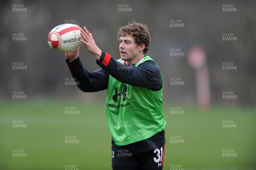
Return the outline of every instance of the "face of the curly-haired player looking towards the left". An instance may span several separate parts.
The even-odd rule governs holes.
[[[119,50],[123,61],[131,61],[143,52],[131,35],[120,37]]]

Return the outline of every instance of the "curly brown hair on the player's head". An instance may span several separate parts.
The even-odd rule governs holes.
[[[150,45],[150,33],[146,25],[133,21],[132,23],[121,27],[117,32],[118,37],[125,37],[128,35],[134,37],[137,45],[142,45],[143,43],[145,44],[143,54],[148,52],[148,47]]]

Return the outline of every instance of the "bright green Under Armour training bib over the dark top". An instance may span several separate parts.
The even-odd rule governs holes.
[[[148,60],[153,61],[149,56],[145,56],[135,66]],[[124,61],[121,59],[117,61],[120,62],[120,66],[123,65]],[[131,86],[109,75],[106,115],[116,145],[142,141],[164,129],[166,121],[162,113],[162,96],[163,88],[152,91],[144,87]]]

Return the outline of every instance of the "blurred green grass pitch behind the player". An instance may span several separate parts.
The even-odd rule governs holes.
[[[72,165],[73,170],[111,170],[105,102],[87,102],[2,102],[0,170],[65,170],[65,165]],[[255,110],[213,107],[201,114],[182,106],[184,114],[173,115],[169,104],[164,106],[164,170],[256,169]],[[67,115],[67,107],[76,114]],[[236,127],[223,128],[223,121]],[[14,128],[13,124],[26,127]],[[79,142],[65,143],[65,136]],[[183,142],[171,143],[174,136]],[[232,154],[223,157],[223,150]],[[14,152],[20,155],[15,157]]]

